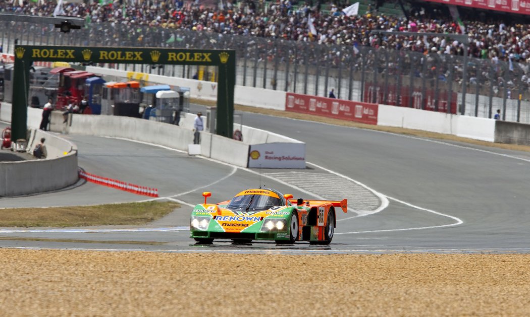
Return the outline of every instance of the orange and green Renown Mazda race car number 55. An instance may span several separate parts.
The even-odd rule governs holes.
[[[348,210],[347,200],[317,201],[282,195],[269,188],[251,188],[232,200],[208,204],[210,192],[202,193],[204,204],[191,212],[190,237],[200,243],[214,239],[234,242],[274,240],[276,243],[309,241],[329,244],[337,216],[335,207]]]

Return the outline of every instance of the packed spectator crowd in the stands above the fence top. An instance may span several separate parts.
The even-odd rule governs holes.
[[[16,14],[50,16],[56,1],[34,2],[0,1],[0,11]],[[141,4],[66,4],[65,15],[81,16],[87,22],[109,22],[115,28],[135,25],[161,26],[168,29],[187,29],[281,38],[293,41],[317,41],[327,44],[383,47],[417,52],[463,55],[462,43],[444,37],[443,33],[462,33],[461,26],[451,16],[427,14],[392,17],[369,11],[357,16],[346,16],[336,6],[323,13],[320,3],[305,3],[294,7],[289,0],[282,2],[246,2],[223,9],[208,8],[196,3],[184,4],[163,1],[144,1]],[[422,12],[423,13],[423,12]],[[312,34],[311,24],[316,34]],[[530,62],[530,24],[509,24],[502,21],[465,21],[469,36],[469,56],[492,60]],[[439,37],[378,35],[374,30],[435,32]],[[141,40],[141,38],[139,39]]]

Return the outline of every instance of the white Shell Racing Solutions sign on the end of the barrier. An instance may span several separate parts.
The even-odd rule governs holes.
[[[305,143],[252,144],[249,168],[305,168]]]

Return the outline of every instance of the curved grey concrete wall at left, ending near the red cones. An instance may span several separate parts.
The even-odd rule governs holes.
[[[54,191],[77,182],[77,148],[43,131],[31,131],[28,150],[46,138],[48,157],[41,160],[0,162],[0,197]]]

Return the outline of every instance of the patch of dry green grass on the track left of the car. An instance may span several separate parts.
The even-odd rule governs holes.
[[[180,208],[175,202],[0,209],[0,227],[82,227],[142,225]]]

